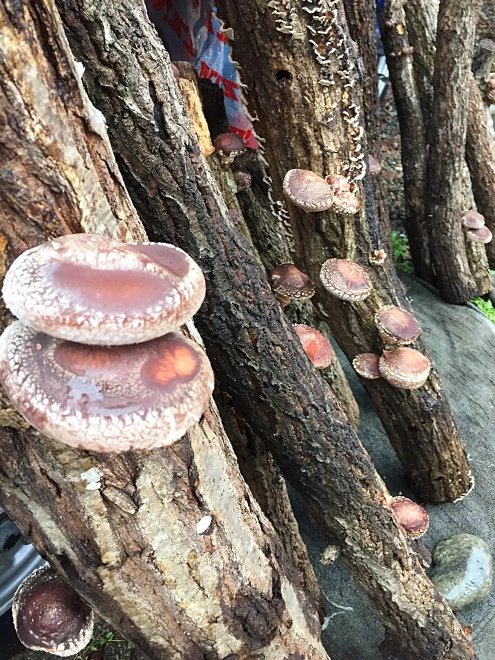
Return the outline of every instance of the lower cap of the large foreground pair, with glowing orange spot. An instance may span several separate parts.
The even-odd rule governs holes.
[[[20,321],[0,338],[0,382],[38,430],[94,452],[170,445],[199,421],[214,386],[206,353],[180,333],[102,347]]]

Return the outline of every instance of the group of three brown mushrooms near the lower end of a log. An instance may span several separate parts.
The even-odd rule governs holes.
[[[375,323],[385,349],[382,355],[357,355],[353,360],[355,371],[363,378],[382,376],[391,385],[405,390],[423,386],[430,375],[430,360],[406,346],[421,334],[417,319],[406,309],[387,305],[377,311]]]

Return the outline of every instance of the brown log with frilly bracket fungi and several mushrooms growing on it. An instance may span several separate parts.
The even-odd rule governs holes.
[[[306,39],[307,14],[300,17],[294,36],[276,30],[274,17],[263,3],[250,0],[242,8],[228,0],[218,3],[221,16],[234,28],[233,55],[243,65],[252,104],[265,138],[267,159],[276,199],[283,199],[282,180],[290,168],[300,167],[318,174],[334,172],[348,157],[342,113],[333,111],[334,126],[321,123],[328,107],[342,102],[340,85],[318,84],[320,71]],[[340,20],[344,21],[342,12]],[[250,25],[250,30],[245,26]],[[263,78],[255,76],[263,67]],[[289,78],[277,81],[279,71]],[[332,335],[352,360],[363,352],[380,352],[373,316],[384,305],[408,309],[408,301],[388,258],[375,263],[374,252],[385,247],[373,196],[365,179],[358,194],[362,210],[355,217],[333,212],[305,214],[294,206],[289,212],[298,247],[296,264],[317,286],[316,308]],[[320,283],[322,263],[331,256],[358,261],[369,273],[373,290],[362,303],[351,304],[331,296]],[[417,344],[427,351],[422,342]],[[388,437],[401,460],[412,487],[423,500],[455,500],[467,492],[470,469],[456,430],[439,374],[432,369],[426,386],[406,392],[383,380],[364,382]]]

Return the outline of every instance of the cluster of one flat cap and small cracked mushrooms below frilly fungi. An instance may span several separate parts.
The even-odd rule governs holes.
[[[289,170],[283,180],[285,197],[308,213],[326,211],[354,215],[360,209],[346,177],[331,174],[326,179],[309,170]]]

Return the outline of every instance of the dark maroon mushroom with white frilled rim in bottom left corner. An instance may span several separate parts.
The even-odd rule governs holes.
[[[21,583],[12,617],[24,646],[62,657],[83,650],[93,634],[92,610],[51,566],[34,571]]]

